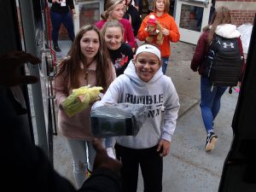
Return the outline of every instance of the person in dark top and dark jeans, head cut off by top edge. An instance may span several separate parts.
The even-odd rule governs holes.
[[[52,3],[50,8],[50,20],[52,26],[51,38],[56,52],[61,52],[58,44],[61,23],[67,28],[68,37],[73,42],[75,38],[73,28],[73,17],[76,17],[73,0],[48,0]],[[70,11],[72,13],[70,13]]]

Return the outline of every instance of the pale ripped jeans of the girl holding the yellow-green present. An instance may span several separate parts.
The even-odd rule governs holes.
[[[73,174],[80,188],[86,179],[87,167],[92,171],[96,150],[89,141],[67,138],[67,143],[73,156]]]

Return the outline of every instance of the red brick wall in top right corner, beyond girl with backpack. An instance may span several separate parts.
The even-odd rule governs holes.
[[[244,23],[253,24],[256,14],[256,0],[216,0],[215,7],[225,6],[230,9],[233,24],[241,26]]]

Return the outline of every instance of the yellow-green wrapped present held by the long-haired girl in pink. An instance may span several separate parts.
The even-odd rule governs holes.
[[[100,94],[102,87],[80,87],[79,89],[72,90],[72,94],[67,96],[67,99],[61,103],[62,108],[69,117],[76,113],[80,113],[85,108],[89,107],[90,102],[95,102]]]

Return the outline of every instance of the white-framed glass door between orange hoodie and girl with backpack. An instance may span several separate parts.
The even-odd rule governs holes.
[[[175,20],[180,40],[197,44],[203,27],[208,25],[212,0],[177,0]]]

